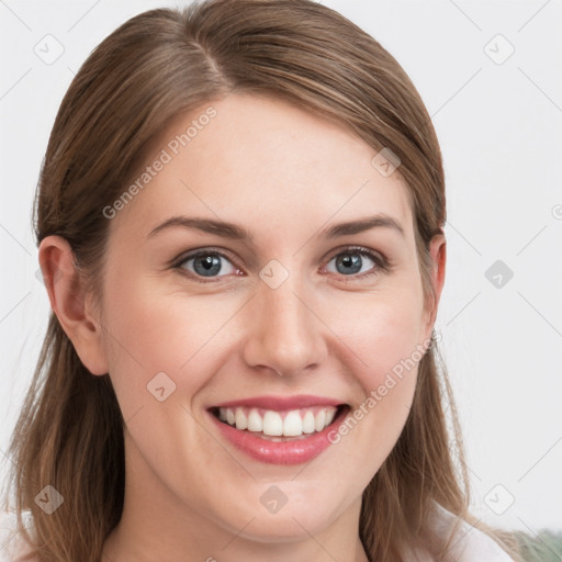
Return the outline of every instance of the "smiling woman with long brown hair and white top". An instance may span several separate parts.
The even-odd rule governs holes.
[[[112,33],[36,200],[30,559],[513,560],[447,434],[445,220],[419,95],[333,10],[211,0]]]

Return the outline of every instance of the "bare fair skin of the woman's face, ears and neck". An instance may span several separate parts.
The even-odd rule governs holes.
[[[146,165],[209,105],[169,123]],[[364,561],[361,493],[405,424],[417,366],[307,464],[250,459],[222,439],[206,408],[266,394],[359,408],[430,337],[445,238],[431,241],[436,300],[425,303],[400,169],[383,177],[371,165],[376,150],[286,102],[237,93],[212,105],[217,115],[111,220],[100,307],[64,239],[40,248],[45,278],[57,279],[47,282],[53,310],[92,375],[110,373],[126,420],[125,506],[102,560]],[[322,234],[375,213],[404,234]],[[175,215],[236,223],[252,241],[181,226],[148,237]],[[349,245],[392,267],[359,255],[361,271],[348,272],[336,258],[357,256]],[[226,256],[213,278],[169,265],[209,247]],[[289,272],[277,289],[259,277],[272,259]],[[183,271],[196,276],[193,266]],[[176,391],[159,402],[147,384],[162,371]],[[260,502],[272,484],[288,499],[276,514]]]

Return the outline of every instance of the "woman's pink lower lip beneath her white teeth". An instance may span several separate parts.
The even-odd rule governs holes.
[[[310,435],[303,434],[305,437],[302,439],[282,442],[261,439],[252,431],[235,429],[228,424],[221,422],[211,412],[209,412],[209,415],[217,425],[223,437],[249,457],[270,464],[302,464],[312,461],[333,445],[328,439],[328,434],[334,435],[334,432],[337,432],[347,413],[348,408],[342,408],[334,422],[322,431],[315,431]]]

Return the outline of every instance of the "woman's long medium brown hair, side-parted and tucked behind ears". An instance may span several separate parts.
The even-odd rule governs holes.
[[[123,193],[144,149],[179,113],[243,91],[336,120],[400,158],[424,294],[432,299],[428,248],[442,232],[446,196],[430,117],[374,38],[310,0],[210,0],[150,10],[108,36],[58,111],[37,187],[37,244],[48,235],[66,238],[99,295],[110,223],[102,209]],[[109,374],[86,369],[52,312],[10,447],[20,530],[38,562],[101,559],[123,509],[123,426]],[[419,363],[404,430],[363,492],[359,532],[371,561],[398,561],[404,546],[429,546],[434,502],[472,521],[458,429],[434,342]],[[64,497],[52,515],[34,502],[47,484]],[[25,510],[33,537],[21,518]],[[436,555],[445,559],[447,548],[439,544]]]

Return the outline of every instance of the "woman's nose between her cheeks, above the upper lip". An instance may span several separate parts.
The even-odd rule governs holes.
[[[294,378],[317,369],[327,356],[326,329],[314,296],[290,276],[271,289],[260,282],[247,316],[244,359],[255,369]]]

